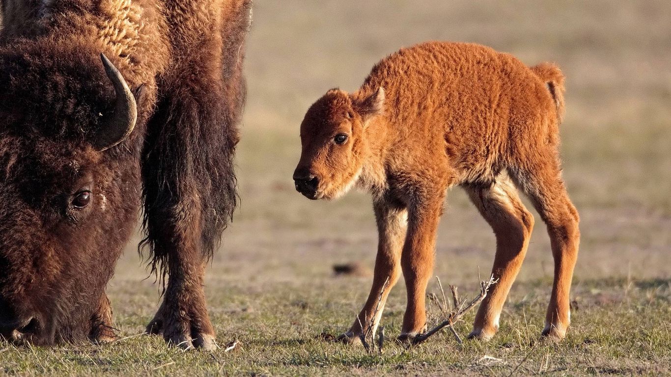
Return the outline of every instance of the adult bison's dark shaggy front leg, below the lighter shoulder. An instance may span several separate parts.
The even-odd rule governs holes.
[[[164,302],[148,331],[162,333],[173,345],[211,349],[215,333],[203,278],[236,205],[237,131],[224,86],[214,82],[203,87],[207,89],[176,88],[158,103],[149,125],[143,178],[145,243],[158,274],[168,276]]]

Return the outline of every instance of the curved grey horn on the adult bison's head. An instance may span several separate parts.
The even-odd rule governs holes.
[[[111,80],[114,91],[117,93],[113,113],[103,119],[100,128],[93,136],[93,146],[102,151],[112,148],[130,135],[138,119],[138,105],[117,67],[107,59],[105,54],[100,54],[100,58],[103,60],[105,73],[107,73],[107,77]]]

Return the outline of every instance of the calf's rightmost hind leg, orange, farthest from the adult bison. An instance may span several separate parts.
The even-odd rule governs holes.
[[[570,288],[578,258],[580,230],[578,211],[568,199],[554,150],[536,154],[532,164],[517,169],[517,184],[529,195],[535,209],[548,226],[554,257],[554,284],[543,335],[562,339],[570,323]]]

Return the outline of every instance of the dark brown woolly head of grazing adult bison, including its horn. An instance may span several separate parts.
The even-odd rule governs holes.
[[[97,336],[138,214],[136,97],[85,55],[0,52],[0,335],[14,343]]]

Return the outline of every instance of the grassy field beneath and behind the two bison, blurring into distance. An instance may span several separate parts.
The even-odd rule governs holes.
[[[206,287],[219,344],[239,340],[238,347],[184,353],[148,336],[52,349],[0,343],[0,374],[669,374],[668,14],[665,0],[256,0],[238,155],[242,206]],[[382,354],[368,355],[321,335],[348,328],[370,284],[370,277],[335,278],[331,266],[372,267],[376,231],[367,195],[315,203],[295,193],[298,125],[327,89],[356,89],[382,56],[429,39],[480,42],[564,69],[564,177],[582,218],[582,242],[572,328],[560,344],[539,341],[552,284],[539,220],[490,343],[458,345],[442,333],[414,349],[387,341]],[[452,191],[435,273],[474,294],[478,268],[486,276],[494,248],[488,225]],[[141,333],[158,306],[158,287],[146,276],[130,245],[109,286],[123,336]],[[382,319],[389,339],[400,331],[404,306],[401,283]],[[435,308],[429,311],[437,320]],[[472,313],[458,327],[462,335],[470,321]]]

